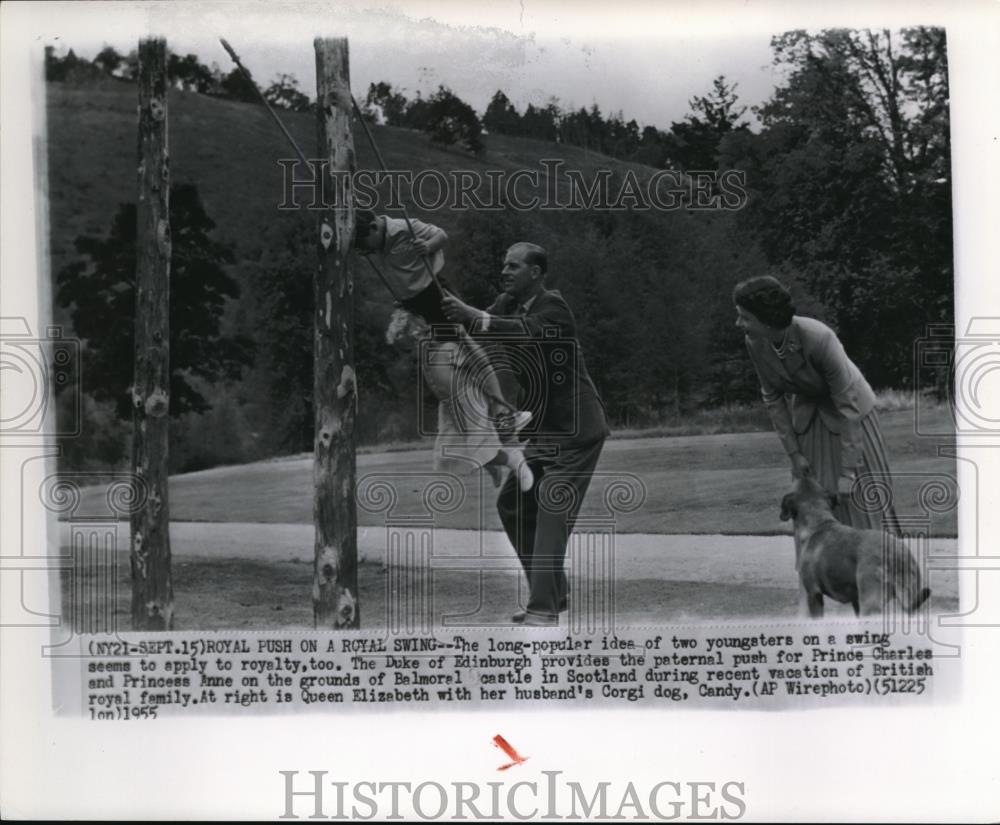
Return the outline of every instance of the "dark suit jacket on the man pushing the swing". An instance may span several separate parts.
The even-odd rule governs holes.
[[[576,337],[576,320],[556,290],[543,289],[528,311],[518,314],[517,301],[502,293],[486,312],[488,329],[473,326],[477,337],[496,338],[519,347],[530,373],[521,375],[522,401],[535,418],[524,434],[569,445],[593,444],[610,434],[604,403],[587,372]],[[532,386],[532,375],[541,386]]]

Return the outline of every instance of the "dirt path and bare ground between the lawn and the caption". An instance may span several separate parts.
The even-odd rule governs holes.
[[[70,525],[61,524],[61,543]],[[358,532],[362,626],[396,626],[400,605],[426,603],[435,625],[496,626],[523,603],[523,576],[499,532],[436,529],[429,563],[416,553],[394,554],[386,564],[385,528]],[[954,539],[932,542],[928,564],[931,609],[958,609]],[[311,627],[313,528],[299,524],[174,522],[174,592],[178,629]],[[128,547],[128,525],[118,547]],[[732,622],[792,618],[798,588],[789,536],[614,536],[609,565],[575,591],[591,604],[613,606],[616,626]],[[580,557],[577,556],[577,559]],[[117,559],[118,607],[128,623],[127,553]],[[570,573],[573,575],[573,557]],[[849,618],[830,605],[828,615]],[[567,621],[569,621],[567,619]]]

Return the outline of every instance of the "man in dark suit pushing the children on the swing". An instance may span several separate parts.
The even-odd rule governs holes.
[[[528,577],[527,611],[513,621],[557,625],[566,609],[566,545],[590,479],[610,434],[604,404],[587,373],[576,338],[576,321],[558,291],[545,288],[545,250],[517,243],[507,250],[503,293],[485,311],[454,296],[442,307],[449,320],[465,324],[512,346],[529,344],[531,370],[541,381],[528,386],[522,374],[526,408],[533,414],[525,456],[535,477],[523,491],[510,476],[500,490],[497,511]]]

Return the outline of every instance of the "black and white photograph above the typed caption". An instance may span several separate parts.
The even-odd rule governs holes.
[[[120,628],[794,616],[807,477],[827,500],[797,526],[919,515],[954,555],[949,373],[914,365],[954,340],[928,335],[954,326],[943,28],[691,44],[700,85],[616,94],[658,42],[407,22],[317,45],[323,105],[353,96],[319,127],[312,42],[46,46],[52,317],[79,345],[52,483],[82,493],[66,530],[115,515],[100,473],[134,479]],[[576,598],[588,552],[609,579]],[[886,583],[907,610],[922,561]],[[880,571],[843,572],[814,610],[882,608]]]

